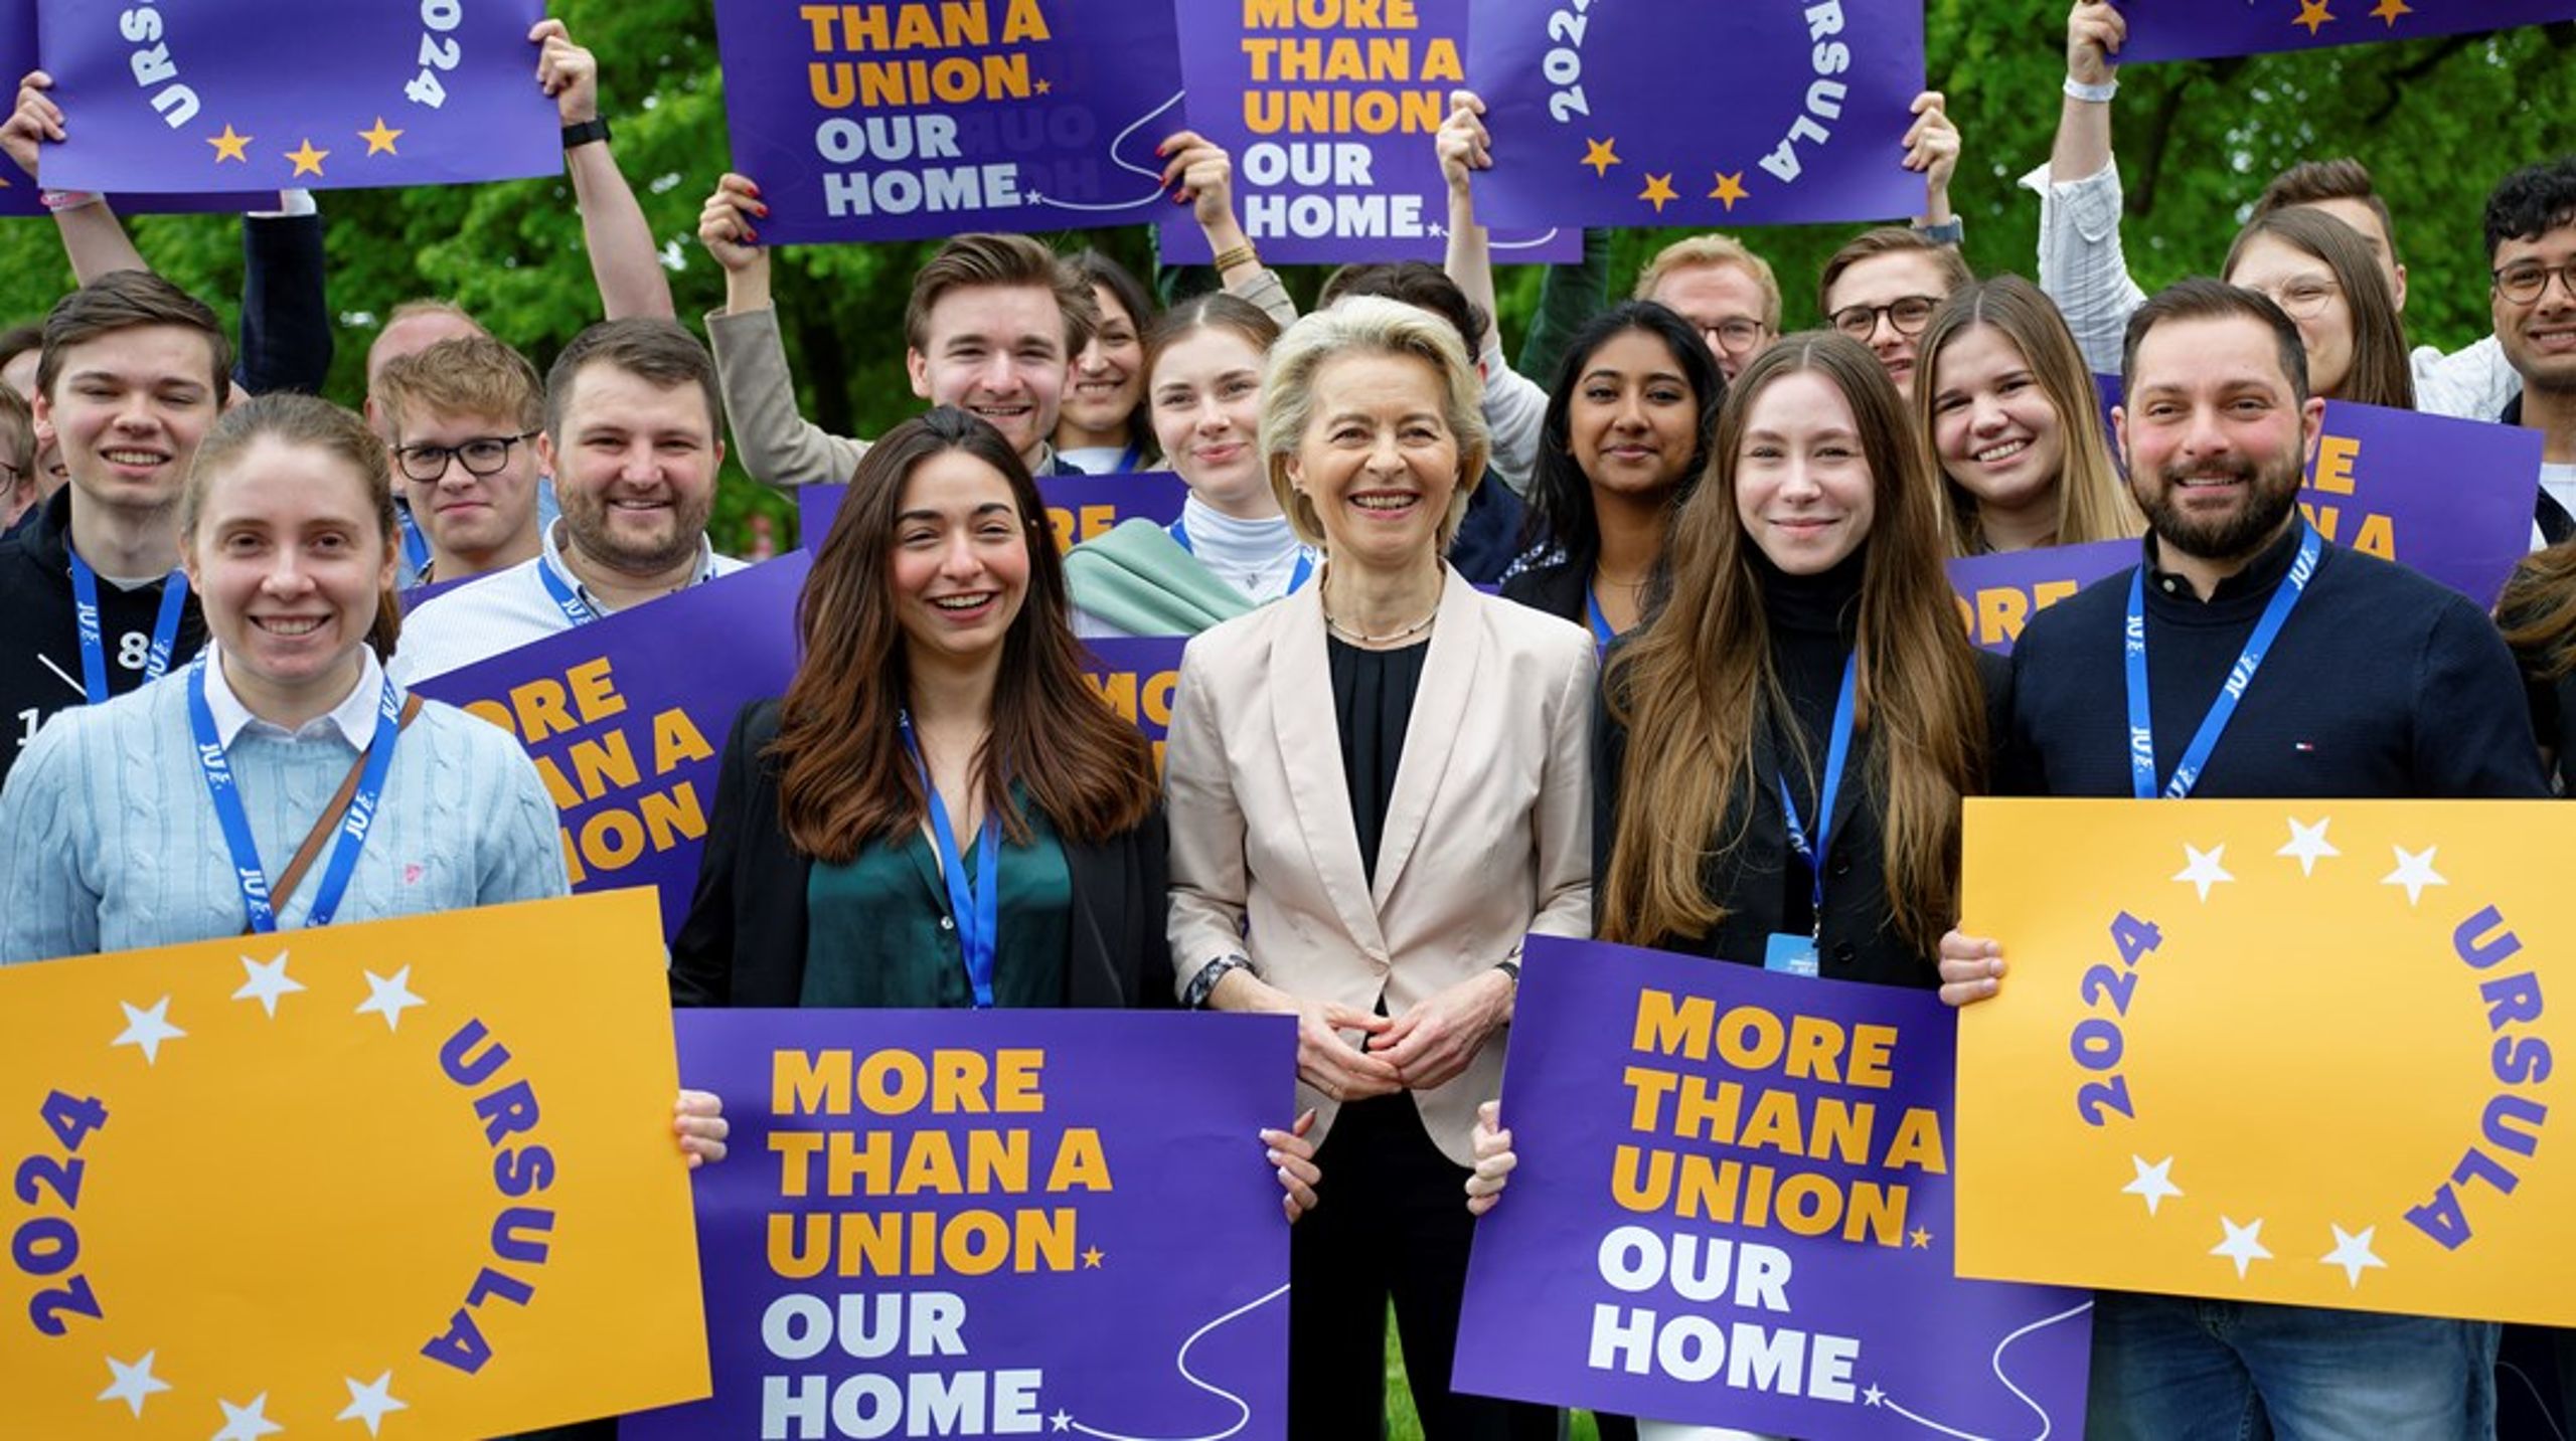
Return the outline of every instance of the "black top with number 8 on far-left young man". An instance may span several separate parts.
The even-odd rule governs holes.
[[[36,520],[0,540],[0,780],[8,780],[18,751],[57,710],[85,705],[80,690],[80,618],[72,607],[72,486],[54,491]],[[142,684],[142,654],[152,646],[160,620],[162,584],[118,589],[98,582],[98,636],[108,648],[108,695]],[[170,672],[185,666],[206,643],[206,618],[196,594],[178,615],[178,643],[170,646]],[[134,659],[134,664],[124,664]]]

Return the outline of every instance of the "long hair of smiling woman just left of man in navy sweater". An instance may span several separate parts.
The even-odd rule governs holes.
[[[1914,414],[1922,425],[1924,458],[1940,476],[1950,504],[1940,507],[1942,533],[1953,556],[1973,556],[1984,548],[1976,522],[1976,491],[1950,479],[1940,463],[1935,440],[1932,401],[1940,396],[1940,353],[1971,329],[1989,324],[2030,365],[2032,381],[2048,396],[2048,409],[2058,412],[2063,435],[2063,468],[2058,471],[2058,546],[2084,546],[2087,540],[2128,540],[2146,530],[2138,507],[2120,484],[2120,468],[2110,461],[2110,443],[2102,437],[2102,399],[2094,391],[2084,353],[2076,350],[2066,317],[2020,275],[1994,275],[1971,280],[1953,293],[1924,327],[1914,353]]]

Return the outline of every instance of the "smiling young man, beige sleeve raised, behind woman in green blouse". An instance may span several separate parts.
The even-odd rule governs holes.
[[[729,178],[732,183],[732,178]],[[724,412],[742,468],[773,486],[842,484],[866,440],[832,435],[796,414],[768,252],[737,232],[744,196],[719,190],[698,237],[724,265],[726,306],[706,317],[724,378]],[[1092,288],[1025,234],[961,234],[912,278],[904,304],[904,371],[912,394],[981,417],[1036,476],[1079,476],[1056,455],[1056,414],[1072,358],[1100,324]]]

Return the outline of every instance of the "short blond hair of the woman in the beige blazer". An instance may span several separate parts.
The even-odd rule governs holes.
[[[1314,419],[1314,381],[1327,360],[1345,355],[1404,355],[1440,376],[1440,419],[1458,437],[1458,489],[1440,517],[1440,548],[1458,535],[1492,440],[1484,427],[1484,381],[1468,360],[1458,327],[1404,301],[1345,296],[1332,309],[1301,317],[1270,350],[1262,376],[1262,461],[1270,466],[1270,491],[1298,540],[1324,546],[1324,522],[1306,491],[1288,481],[1288,461]]]

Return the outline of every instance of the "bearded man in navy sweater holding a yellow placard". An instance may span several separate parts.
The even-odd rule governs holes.
[[[2112,412],[2146,558],[2030,618],[2004,782],[2040,795],[2540,798],[2514,661],[2465,597],[2324,543],[2298,515],[2324,401],[2269,298],[2182,280],[2146,301]],[[2110,697],[2125,695],[2128,708]],[[1942,937],[1942,998],[2004,983]],[[2087,1436],[2486,1441],[2496,1328],[2102,1292]]]

